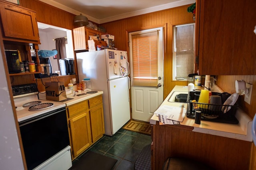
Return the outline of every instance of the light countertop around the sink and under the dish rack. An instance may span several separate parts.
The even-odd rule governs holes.
[[[172,95],[174,91],[181,91],[187,92],[187,86],[175,86],[170,94],[166,97],[164,102],[162,102],[161,106],[177,106],[179,107],[181,103],[178,102],[168,102],[168,99]],[[221,92],[221,89],[218,91]],[[186,104],[187,107],[187,104]],[[199,133],[207,133],[211,135],[217,135],[222,137],[228,137],[233,139],[240,139],[244,141],[252,141],[252,119],[244,112],[242,109],[238,108],[236,111],[236,118],[238,119],[239,123],[234,124],[227,124],[227,123],[218,123],[212,121],[203,121],[201,120],[201,124],[198,125],[194,123],[194,119],[187,118],[185,116],[184,120],[180,122],[180,125],[194,127],[192,131],[199,132]],[[158,121],[157,114],[154,114],[151,119],[151,124],[156,124]]]

